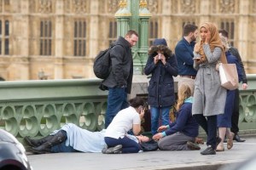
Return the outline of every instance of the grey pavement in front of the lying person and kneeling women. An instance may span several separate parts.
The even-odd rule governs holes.
[[[206,147],[206,144],[201,144],[201,150]],[[213,170],[224,164],[239,163],[253,154],[256,154],[256,138],[247,137],[247,141],[244,143],[235,141],[231,150],[227,150],[225,144],[225,151],[218,152],[215,156],[201,156],[200,150],[157,150],[119,155],[104,155],[102,153],[29,155],[28,153],[28,159],[34,170]]]

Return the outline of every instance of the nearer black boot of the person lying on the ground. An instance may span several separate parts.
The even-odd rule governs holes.
[[[36,153],[36,154],[49,153],[51,147],[53,147],[53,146],[55,146],[57,144],[61,144],[66,139],[67,139],[66,132],[61,130],[58,133],[55,133],[55,135],[53,135],[52,139],[49,139],[47,142],[45,142],[44,144],[39,145],[38,147],[30,148],[30,150],[33,153]]]

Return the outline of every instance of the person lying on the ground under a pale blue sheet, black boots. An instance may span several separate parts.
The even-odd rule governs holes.
[[[57,153],[57,152],[102,152],[106,145],[104,135],[106,129],[100,132],[90,132],[89,130],[78,127],[73,123],[67,123],[61,129],[49,134],[42,139],[31,139],[25,137],[24,140],[28,148],[34,154]],[[139,135],[127,136],[137,143],[148,142],[147,136]]]

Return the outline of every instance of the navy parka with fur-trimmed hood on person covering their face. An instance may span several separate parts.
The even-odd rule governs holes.
[[[154,57],[161,49],[166,56],[166,65],[158,61],[154,65]],[[171,106],[175,102],[174,81],[177,77],[177,60],[165,39],[156,39],[148,51],[148,61],[144,68],[146,75],[152,75],[148,86],[148,105],[154,107]]]

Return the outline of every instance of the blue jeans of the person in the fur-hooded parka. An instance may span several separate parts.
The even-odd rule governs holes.
[[[151,112],[151,133],[154,135],[157,133],[157,129],[159,127],[159,118],[161,115],[161,124],[169,125],[170,123],[170,111],[171,106],[168,107],[150,107]]]

